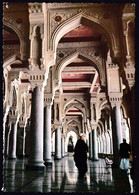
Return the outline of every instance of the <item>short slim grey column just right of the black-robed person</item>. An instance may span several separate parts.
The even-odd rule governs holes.
[[[92,160],[98,160],[97,130],[92,130]]]

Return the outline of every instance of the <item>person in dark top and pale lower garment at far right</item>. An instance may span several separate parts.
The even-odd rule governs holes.
[[[120,144],[120,169],[127,173],[129,169],[129,154],[131,152],[130,145],[126,143],[126,139],[123,138],[123,143]]]

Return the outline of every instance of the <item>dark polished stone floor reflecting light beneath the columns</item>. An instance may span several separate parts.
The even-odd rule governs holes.
[[[104,159],[88,160],[88,172],[81,180],[73,156],[53,160],[45,171],[26,170],[27,159],[5,160],[4,192],[83,192],[133,193],[135,182],[131,174],[122,175],[117,168],[106,166]]]

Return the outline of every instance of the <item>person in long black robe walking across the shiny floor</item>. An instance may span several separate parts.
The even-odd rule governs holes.
[[[88,146],[84,141],[84,134],[80,134],[80,139],[77,141],[74,149],[74,161],[79,171],[79,178],[83,179],[87,172],[87,152]]]

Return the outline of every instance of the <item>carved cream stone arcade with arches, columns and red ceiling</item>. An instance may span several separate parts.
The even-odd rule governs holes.
[[[119,164],[126,138],[135,161],[135,7],[4,4],[4,156],[40,168],[72,152]]]

